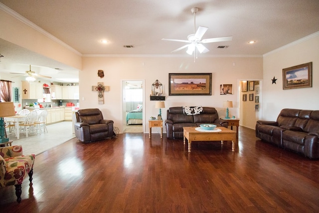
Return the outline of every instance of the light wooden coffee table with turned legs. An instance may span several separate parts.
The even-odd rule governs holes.
[[[235,152],[236,145],[236,132],[225,127],[216,127],[220,129],[220,132],[200,132],[195,130],[197,127],[183,127],[184,137],[183,142],[185,145],[185,139],[188,141],[188,152],[191,151],[192,141],[231,141],[231,151]]]

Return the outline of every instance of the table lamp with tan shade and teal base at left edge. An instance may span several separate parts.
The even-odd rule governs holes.
[[[5,138],[5,124],[3,117],[14,116],[13,102],[0,102],[0,143],[8,142],[9,139]]]

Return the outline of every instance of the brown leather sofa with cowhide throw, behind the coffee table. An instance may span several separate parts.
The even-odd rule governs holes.
[[[228,122],[218,118],[218,113],[213,107],[203,107],[198,115],[186,115],[182,107],[170,107],[165,120],[168,139],[183,138],[183,127],[199,127],[199,124],[215,124],[228,127]]]

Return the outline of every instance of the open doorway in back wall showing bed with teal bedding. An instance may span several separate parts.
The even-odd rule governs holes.
[[[144,132],[144,81],[122,81],[123,133]]]

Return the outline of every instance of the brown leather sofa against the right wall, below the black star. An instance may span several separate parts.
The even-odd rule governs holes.
[[[319,110],[283,109],[277,121],[257,121],[256,137],[319,158]]]

